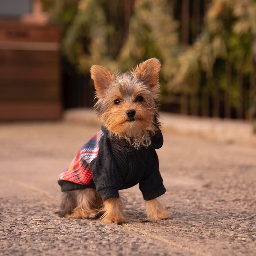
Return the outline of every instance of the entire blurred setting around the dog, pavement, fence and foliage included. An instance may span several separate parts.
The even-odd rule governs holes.
[[[255,36],[256,0],[0,0],[0,255],[255,256]],[[170,219],[143,221],[138,185],[126,226],[60,219],[58,176],[100,129],[91,65],[152,57]]]

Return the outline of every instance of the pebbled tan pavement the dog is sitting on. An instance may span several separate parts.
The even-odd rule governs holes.
[[[58,218],[57,176],[98,129],[0,125],[0,255],[256,255],[256,149],[167,129],[157,152],[170,219],[141,222],[138,187],[124,191],[122,226]]]

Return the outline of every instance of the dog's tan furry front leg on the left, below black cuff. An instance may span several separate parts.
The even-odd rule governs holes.
[[[121,225],[125,222],[123,213],[124,202],[121,198],[109,198],[103,201],[101,219],[105,223],[115,223]]]

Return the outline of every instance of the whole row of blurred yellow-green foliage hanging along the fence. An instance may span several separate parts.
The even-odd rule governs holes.
[[[93,64],[126,71],[138,62],[158,57],[162,62],[163,93],[193,94],[212,90],[215,73],[219,74],[220,88],[225,90],[225,62],[229,61],[233,67],[231,102],[235,106],[236,72],[242,69],[244,75],[249,75],[252,71],[255,0],[213,0],[202,32],[191,46],[179,42],[179,22],[173,19],[172,0],[136,0],[131,10],[125,9],[125,0],[42,1],[62,25],[63,53],[80,72],[89,73]],[[120,27],[113,16],[120,10],[121,15],[132,13],[127,28]],[[118,36],[120,30],[125,30],[122,38]]]

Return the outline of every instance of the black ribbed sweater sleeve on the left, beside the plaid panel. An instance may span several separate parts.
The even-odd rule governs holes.
[[[100,139],[99,151],[97,157],[91,161],[90,169],[96,190],[102,200],[119,197],[118,191],[123,185],[123,177],[113,159],[106,136]]]

